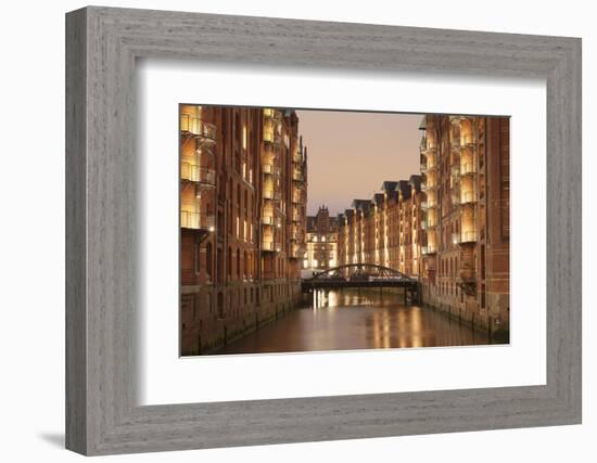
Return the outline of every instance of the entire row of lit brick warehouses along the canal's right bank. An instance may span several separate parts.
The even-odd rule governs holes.
[[[428,115],[421,175],[339,215],[339,265],[421,279],[424,303],[509,335],[509,119]]]

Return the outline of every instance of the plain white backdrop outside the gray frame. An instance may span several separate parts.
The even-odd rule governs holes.
[[[62,450],[64,416],[64,12],[82,2],[8,3],[2,11],[2,168],[0,308],[3,397],[0,454],[5,461],[72,461]],[[104,4],[305,20],[350,21],[583,37],[584,108],[584,424],[551,428],[458,433],[336,442],[118,456],[119,461],[355,461],[442,462],[596,460],[595,197],[597,173],[597,31],[589,2],[495,3],[322,1],[106,1]],[[530,172],[532,175],[532,172]],[[593,329],[593,330],[592,330]]]

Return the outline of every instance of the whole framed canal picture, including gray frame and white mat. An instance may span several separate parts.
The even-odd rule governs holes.
[[[581,423],[581,40],[66,16],[66,446]]]

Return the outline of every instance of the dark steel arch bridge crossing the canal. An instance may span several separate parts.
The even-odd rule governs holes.
[[[422,294],[417,279],[374,263],[346,263],[326,269],[310,279],[303,280],[301,286],[303,293],[345,287],[402,287],[405,300],[410,294],[411,299],[419,303]]]

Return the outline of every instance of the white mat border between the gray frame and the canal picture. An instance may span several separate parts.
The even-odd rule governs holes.
[[[545,82],[395,73],[392,77],[204,63],[138,64],[141,403],[256,400],[545,384]],[[201,86],[196,83],[201,82]],[[238,86],[242,82],[242,86]],[[289,93],[285,89],[292,89]],[[347,100],[346,95],[351,98]],[[466,94],[467,98],[461,98]],[[264,97],[267,95],[267,97]],[[267,101],[263,99],[267,98]],[[178,103],[508,114],[511,343],[437,349],[178,358]],[[308,140],[307,140],[308,143]],[[312,156],[313,156],[313,152]],[[534,176],[528,172],[533,171]],[[524,197],[536,204],[525,207]],[[356,362],[356,363],[355,363]],[[357,368],[355,365],[358,364]],[[204,381],[234,373],[236,381]]]

